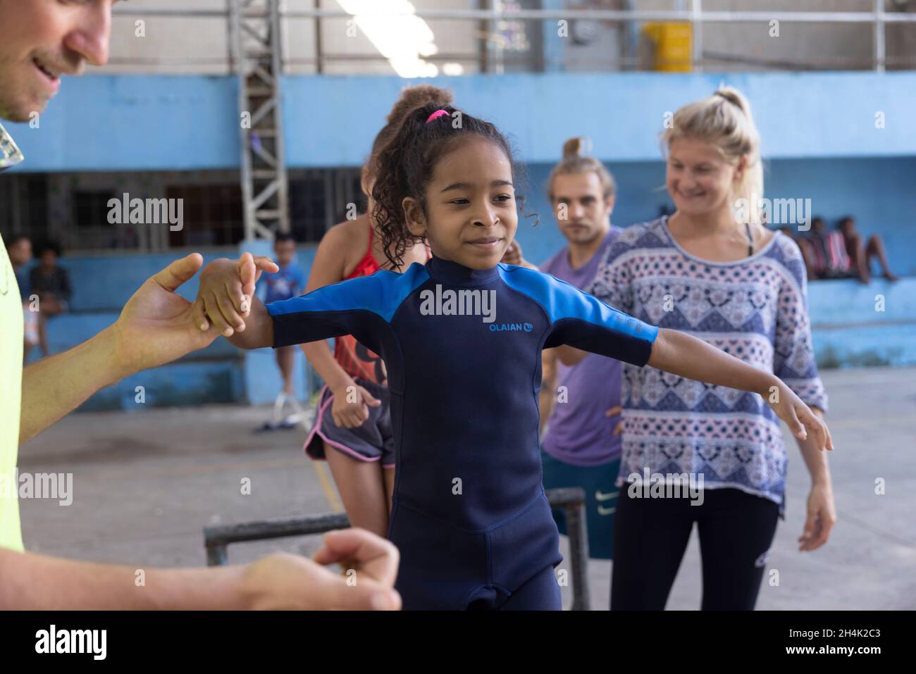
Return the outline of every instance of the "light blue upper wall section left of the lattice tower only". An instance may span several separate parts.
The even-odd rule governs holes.
[[[238,87],[227,77],[66,78],[38,128],[7,125],[26,162],[14,170],[232,168]]]

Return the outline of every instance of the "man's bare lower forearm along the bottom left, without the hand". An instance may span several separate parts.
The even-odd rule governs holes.
[[[244,573],[131,569],[0,549],[0,610],[242,609]]]

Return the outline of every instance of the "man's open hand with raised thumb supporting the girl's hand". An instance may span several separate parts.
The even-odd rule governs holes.
[[[219,332],[195,325],[191,302],[176,294],[203,264],[200,253],[175,260],[155,276],[147,278],[127,300],[111,331],[114,364],[119,378],[157,367],[213,342]]]

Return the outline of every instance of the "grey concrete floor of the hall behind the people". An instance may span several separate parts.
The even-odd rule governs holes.
[[[822,549],[802,553],[808,478],[792,443],[780,523],[758,608],[916,608],[916,369],[826,371],[839,521]],[[301,452],[302,429],[253,433],[267,408],[214,406],[72,415],[21,448],[27,473],[73,473],[73,501],[20,503],[27,549],[80,560],[202,565],[202,527],[339,508],[330,473]],[[251,494],[243,495],[244,478]],[[884,495],[875,494],[883,478]],[[310,554],[318,538],[236,544],[231,561],[284,549]],[[565,547],[565,539],[563,541]],[[610,562],[590,563],[592,605],[606,609]],[[778,570],[779,585],[767,582]],[[700,603],[694,535],[670,609]],[[567,592],[567,603],[569,596]]]

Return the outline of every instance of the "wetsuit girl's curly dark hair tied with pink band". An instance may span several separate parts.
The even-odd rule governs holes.
[[[437,110],[444,110],[448,116],[426,120]],[[404,252],[409,242],[418,242],[419,237],[410,234],[404,217],[402,202],[412,197],[420,202],[426,213],[426,186],[443,156],[453,151],[458,143],[472,136],[480,136],[502,149],[512,168],[512,181],[520,191],[519,181],[525,179],[524,167],[513,158],[506,136],[495,125],[459,111],[452,105],[427,103],[411,110],[404,116],[398,133],[382,147],[376,156],[376,183],[372,198],[376,201],[372,212],[381,234],[383,249],[388,262],[394,268],[404,264]],[[524,196],[517,194],[516,203],[523,215],[537,215],[524,212]]]

